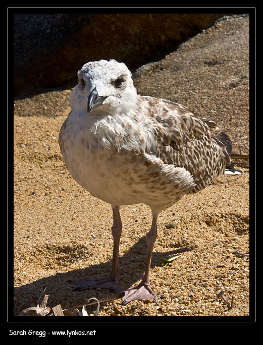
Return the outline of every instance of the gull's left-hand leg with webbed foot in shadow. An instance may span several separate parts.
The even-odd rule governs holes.
[[[113,290],[114,287],[118,284],[119,275],[121,271],[119,269],[119,246],[120,246],[120,238],[122,234],[122,221],[120,216],[120,207],[113,206],[113,226],[112,226],[112,234],[113,234],[113,263],[112,263],[112,270],[108,277],[102,279],[84,279],[84,280],[70,280],[71,284],[76,284],[77,287],[74,291],[83,291],[87,290],[90,287],[104,287],[106,289]]]

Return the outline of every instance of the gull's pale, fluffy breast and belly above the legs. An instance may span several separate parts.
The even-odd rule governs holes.
[[[146,153],[152,140],[128,117],[94,121],[86,115],[73,121],[70,114],[59,142],[72,177],[93,196],[116,205],[166,208],[194,183],[189,171]]]

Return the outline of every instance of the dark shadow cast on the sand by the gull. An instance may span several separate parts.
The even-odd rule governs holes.
[[[142,237],[122,256],[120,256],[119,264],[123,274],[120,276],[119,284],[116,287],[116,291],[128,289],[143,278],[145,270],[146,250],[147,246],[145,237]],[[174,250],[167,252],[153,252],[151,268],[155,266],[161,267],[162,257],[168,257],[175,253],[188,250],[190,249],[175,248]],[[112,253],[109,253],[109,256],[110,255],[112,255]],[[61,304],[62,308],[67,308],[67,305],[71,307],[72,305],[74,305],[74,298],[78,296],[76,294],[82,294],[83,300],[90,297],[102,298],[114,294],[114,292],[110,292],[108,289],[99,289],[99,293],[96,292],[97,289],[89,289],[84,292],[74,292],[74,285],[71,285],[68,282],[68,280],[71,279],[81,280],[106,277],[107,275],[109,275],[111,267],[112,260],[99,264],[89,265],[88,267],[84,267],[82,269],[69,270],[66,273],[57,273],[55,275],[46,276],[29,284],[14,287],[14,316],[18,316],[19,313],[25,308],[36,306],[43,286],[46,284],[47,287],[45,294],[49,294],[48,306],[50,308],[58,304]],[[153,279],[152,285],[154,286]],[[80,296],[81,295],[79,295],[78,297]]]

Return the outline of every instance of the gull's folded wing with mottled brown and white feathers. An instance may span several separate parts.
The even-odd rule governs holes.
[[[150,109],[148,130],[154,138],[148,153],[190,171],[195,192],[224,173],[230,157],[225,145],[212,134],[218,128],[214,121],[200,119],[185,106],[165,99],[141,96],[141,101]]]

